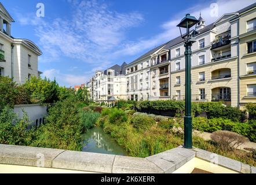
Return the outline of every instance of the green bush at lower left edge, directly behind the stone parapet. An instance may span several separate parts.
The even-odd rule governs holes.
[[[5,106],[0,112],[0,143],[5,145],[28,145],[28,116],[18,119],[12,108]]]

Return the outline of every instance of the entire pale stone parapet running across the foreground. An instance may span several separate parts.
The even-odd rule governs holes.
[[[180,146],[147,158],[115,156],[60,149],[0,145],[0,164],[67,169],[97,173],[173,173],[193,158],[213,161],[238,173],[256,173],[256,168],[209,151]],[[216,161],[214,161],[216,162]],[[216,163],[215,163],[216,164]]]

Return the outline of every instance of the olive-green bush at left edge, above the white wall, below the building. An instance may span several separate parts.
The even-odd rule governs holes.
[[[17,84],[9,77],[0,76],[0,112],[6,105],[13,107],[17,95]]]

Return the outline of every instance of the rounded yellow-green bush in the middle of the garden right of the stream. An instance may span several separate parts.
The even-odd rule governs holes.
[[[134,125],[134,128],[145,129],[151,127],[153,124],[156,124],[156,121],[152,117],[148,117],[144,114],[133,115],[131,119],[131,124]]]

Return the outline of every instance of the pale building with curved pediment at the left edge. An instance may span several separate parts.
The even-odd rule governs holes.
[[[31,40],[13,38],[13,18],[0,2],[0,76],[9,76],[17,83],[24,83],[33,76],[40,76],[38,57],[42,51]]]

